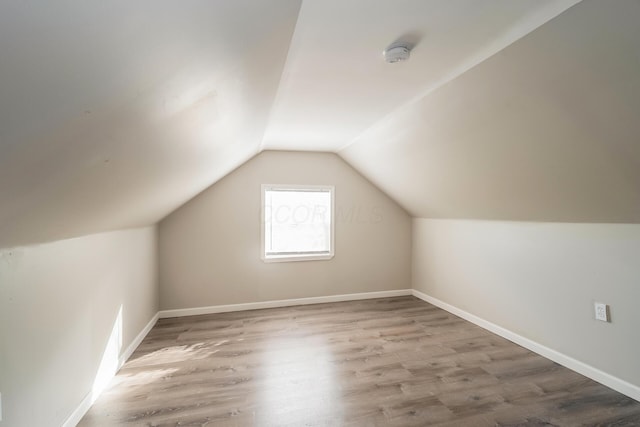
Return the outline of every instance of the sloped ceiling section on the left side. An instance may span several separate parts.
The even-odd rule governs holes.
[[[153,224],[255,155],[299,8],[0,2],[0,247]]]

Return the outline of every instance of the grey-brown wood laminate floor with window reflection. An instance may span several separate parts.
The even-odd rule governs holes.
[[[639,426],[640,403],[414,297],[162,319],[80,426]]]

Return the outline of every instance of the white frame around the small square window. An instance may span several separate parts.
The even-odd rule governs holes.
[[[266,251],[266,210],[265,210],[265,193],[268,190],[280,191],[322,191],[329,192],[331,195],[331,231],[328,252],[301,252],[297,254],[284,255],[267,255]],[[260,254],[264,262],[291,262],[291,261],[322,261],[329,260],[334,256],[335,248],[335,187],[333,185],[280,185],[280,184],[262,184],[260,199]]]

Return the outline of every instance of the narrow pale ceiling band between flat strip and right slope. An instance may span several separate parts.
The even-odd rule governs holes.
[[[531,33],[536,28],[544,25],[545,23],[549,22],[556,16],[575,6],[581,1],[582,0],[566,0],[558,3],[550,3],[548,6],[539,9],[536,13],[531,14],[524,19],[521,19],[519,22],[516,22],[509,30],[505,31],[501,37],[496,38],[491,43],[486,45],[483,49],[479,49],[475,55],[471,56],[466,61],[462,62],[458,67],[454,68],[451,73],[445,75],[442,79],[436,81],[433,85],[430,85],[424,91],[418,93],[405,104],[389,112],[385,117],[371,125],[356,138],[336,150],[336,153],[340,154],[341,151],[347,149],[349,146],[366,139],[369,135],[377,133],[380,128],[385,127],[403,111],[413,108],[415,104],[422,98],[429,96],[429,94],[431,94],[438,88],[444,86],[452,80],[455,80],[476,65],[484,62],[488,58],[492,57],[496,53],[505,49],[512,43]],[[345,161],[349,163],[347,159],[345,159]]]

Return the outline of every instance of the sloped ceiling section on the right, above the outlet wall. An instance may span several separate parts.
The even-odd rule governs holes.
[[[340,154],[418,217],[638,223],[638,22],[583,1]]]

